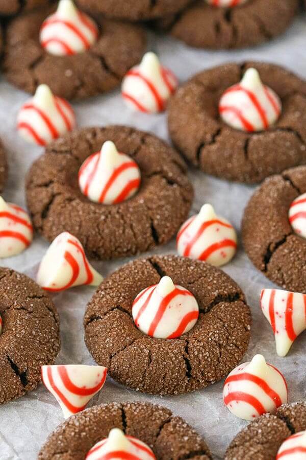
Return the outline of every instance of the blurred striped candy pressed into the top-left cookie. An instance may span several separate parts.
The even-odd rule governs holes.
[[[43,22],[40,43],[50,54],[67,56],[83,53],[98,38],[98,28],[87,14],[79,11],[72,0],[60,0],[56,13]]]

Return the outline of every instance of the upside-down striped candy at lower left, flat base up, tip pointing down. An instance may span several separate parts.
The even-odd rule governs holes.
[[[104,366],[41,366],[42,381],[60,404],[65,419],[85,409],[105,384],[106,375]]]

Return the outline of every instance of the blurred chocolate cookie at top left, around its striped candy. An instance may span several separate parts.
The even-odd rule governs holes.
[[[86,52],[54,56],[40,45],[39,30],[51,11],[25,13],[7,28],[4,73],[15,86],[34,93],[46,83],[67,99],[84,98],[109,91],[119,85],[125,73],[143,55],[145,33],[138,26],[96,16],[98,41]]]

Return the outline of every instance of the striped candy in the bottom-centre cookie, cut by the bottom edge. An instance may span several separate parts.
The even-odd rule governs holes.
[[[133,436],[126,436],[119,428],[113,428],[107,439],[95,444],[86,460],[156,460],[153,451]]]

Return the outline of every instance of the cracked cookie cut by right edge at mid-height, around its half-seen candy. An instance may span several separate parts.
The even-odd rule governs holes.
[[[306,192],[306,166],[269,177],[251,197],[242,220],[245,251],[278,286],[306,294],[306,239],[289,222],[292,201]]]

